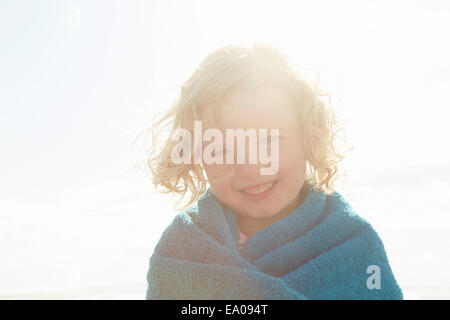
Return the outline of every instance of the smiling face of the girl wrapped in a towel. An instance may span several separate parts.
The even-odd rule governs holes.
[[[235,90],[221,102],[221,121],[226,129],[253,128],[257,132],[267,129],[268,135],[270,129],[279,129],[279,167],[275,174],[261,175],[259,164],[248,163],[248,139],[247,162],[233,164],[234,171],[230,176],[215,179],[214,164],[205,166],[215,197],[245,218],[276,219],[288,215],[300,204],[299,192],[306,177],[306,161],[300,121],[293,108],[287,95],[271,87]],[[210,110],[205,111],[202,120],[203,129],[215,127]],[[249,189],[271,182],[275,183],[263,199],[258,199],[261,194],[255,195],[255,192],[264,186],[259,190]],[[245,191],[253,191],[253,194]]]

